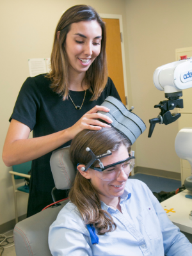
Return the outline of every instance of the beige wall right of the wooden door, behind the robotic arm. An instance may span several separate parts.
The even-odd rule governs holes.
[[[153,84],[154,70],[175,61],[175,49],[192,44],[191,8],[191,0],[126,1],[132,102],[147,124],[147,131],[136,141],[138,166],[180,172],[174,148],[178,122],[156,124],[152,138],[147,138],[148,120],[160,112],[154,105],[165,100],[164,92]]]

